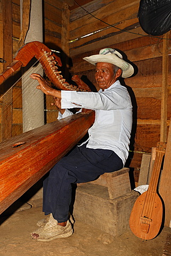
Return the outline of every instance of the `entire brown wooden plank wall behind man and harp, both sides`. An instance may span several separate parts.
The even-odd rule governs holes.
[[[0,34],[3,29],[1,2],[2,0],[0,0]],[[128,59],[135,63],[138,69],[136,76],[125,79],[124,83],[131,93],[134,106],[133,136],[127,165],[134,170],[137,182],[142,154],[151,153],[151,148],[156,147],[156,143],[160,140],[162,36],[148,36],[140,27],[137,19],[139,0],[77,0],[76,2],[83,4],[85,10],[78,7],[76,3],[73,5],[73,0],[43,1],[44,43],[53,50],[68,53],[70,42],[71,74],[84,76],[95,86],[94,67],[83,61],[85,56],[99,53],[99,50],[105,47],[113,47],[123,51]],[[68,26],[66,4],[70,6]],[[66,20],[62,23],[62,19]],[[63,31],[62,24],[67,27]],[[67,30],[70,33],[67,33]],[[20,37],[20,0],[12,0],[12,34],[14,54],[18,50]],[[65,36],[66,43],[64,43]],[[3,42],[0,43],[3,45]],[[3,58],[2,54],[1,48],[0,58]],[[169,56],[169,66],[170,62]],[[2,63],[0,63],[0,70],[3,70]],[[170,71],[168,73],[168,125],[171,117],[169,78]],[[21,84],[18,83],[13,89],[13,95],[20,91]],[[2,93],[1,90],[0,92]],[[0,101],[0,114],[1,110]],[[57,114],[55,107],[51,106],[51,98],[46,99],[46,110],[47,122],[54,121]],[[13,102],[12,111],[13,136],[22,132],[21,98]],[[0,124],[1,122],[0,115]]]

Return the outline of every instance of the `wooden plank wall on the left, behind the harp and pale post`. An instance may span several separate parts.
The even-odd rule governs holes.
[[[66,0],[70,4],[72,0]],[[0,0],[0,34],[3,34],[3,17],[2,17],[2,0]],[[62,30],[62,8],[63,1],[60,0],[44,0],[43,1],[43,33],[44,43],[50,49],[61,51],[61,30]],[[20,0],[12,0],[12,52],[13,55],[19,49],[18,42],[20,37]],[[1,38],[1,37],[0,37]],[[3,41],[0,39],[3,46]],[[0,58],[3,58],[3,47],[0,49]],[[7,61],[6,66],[11,61]],[[3,63],[0,63],[0,73],[4,70]],[[21,74],[18,74],[20,76]],[[3,86],[0,87],[0,97],[5,92]],[[12,89],[13,105],[12,105],[12,131],[11,136],[22,133],[22,92],[21,81],[19,81]],[[18,95],[18,97],[17,97]],[[17,97],[17,98],[16,98]],[[46,98],[46,120],[50,123],[56,120],[58,110],[51,106],[51,97]],[[0,100],[0,131],[2,123],[2,100]],[[0,136],[1,138],[1,136]],[[0,139],[1,141],[1,139]]]

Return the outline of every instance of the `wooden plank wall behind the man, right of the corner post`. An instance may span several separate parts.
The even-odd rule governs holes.
[[[77,7],[70,11],[73,74],[85,75],[96,86],[93,66],[83,58],[97,54],[105,47],[123,51],[137,67],[137,74],[124,80],[134,107],[133,136],[127,165],[134,170],[135,182],[139,178],[142,154],[151,153],[151,148],[160,141],[163,42],[162,36],[148,36],[140,27],[137,18],[139,3],[139,0],[94,0],[83,5],[85,10]],[[170,62],[169,56],[169,66]],[[170,75],[169,70],[168,125],[171,117]]]

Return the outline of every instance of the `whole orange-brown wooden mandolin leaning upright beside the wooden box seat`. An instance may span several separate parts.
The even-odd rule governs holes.
[[[132,232],[142,239],[152,239],[160,231],[163,210],[157,186],[165,150],[166,143],[158,142],[149,188],[136,199],[129,218]]]

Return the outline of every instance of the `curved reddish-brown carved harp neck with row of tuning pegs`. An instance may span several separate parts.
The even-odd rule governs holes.
[[[14,56],[14,62],[0,75],[0,83],[4,81],[13,71],[20,67],[25,67],[32,58],[36,58],[42,65],[46,76],[50,79],[54,86],[60,90],[72,91],[91,91],[89,86],[79,79],[78,76],[72,77],[72,80],[78,86],[69,84],[61,75],[58,66],[62,63],[60,58],[52,53],[52,51],[43,43],[38,41],[30,42],[23,45]]]

